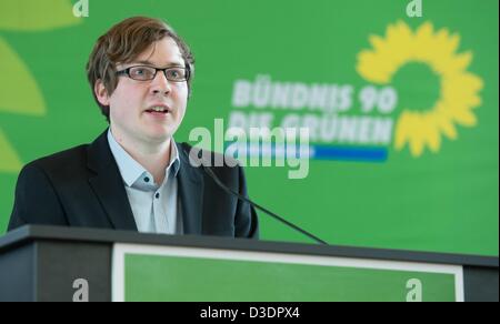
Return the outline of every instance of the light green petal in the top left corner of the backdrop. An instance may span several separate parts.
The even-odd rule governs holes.
[[[69,0],[1,0],[0,6],[1,30],[52,30],[81,22]]]

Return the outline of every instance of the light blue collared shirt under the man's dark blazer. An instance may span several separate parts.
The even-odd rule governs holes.
[[[182,216],[177,191],[180,160],[173,138],[170,162],[161,185],[154,183],[151,173],[114,140],[111,130],[108,131],[108,142],[123,179],[139,232],[182,234]]]

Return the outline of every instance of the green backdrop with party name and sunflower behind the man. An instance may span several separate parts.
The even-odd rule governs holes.
[[[331,244],[498,255],[497,0],[423,0],[422,18],[402,0],[89,0],[82,18],[76,2],[0,2],[0,233],[20,168],[107,126],[84,64],[113,23],[146,14],[197,58],[178,142],[237,113],[313,128],[306,179],[246,169],[256,202]],[[262,239],[310,242],[259,215]]]

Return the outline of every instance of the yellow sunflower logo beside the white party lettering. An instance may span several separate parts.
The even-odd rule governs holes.
[[[456,125],[471,128],[478,120],[473,110],[481,104],[478,92],[483,81],[467,71],[472,53],[457,53],[459,34],[447,29],[433,30],[426,22],[416,32],[402,21],[390,24],[386,38],[370,37],[372,50],[358,55],[357,71],[366,80],[388,84],[392,77],[408,63],[423,63],[440,78],[440,95],[433,107],[424,111],[404,109],[396,123],[394,146],[409,145],[412,156],[426,149],[438,152],[441,136],[456,140]]]

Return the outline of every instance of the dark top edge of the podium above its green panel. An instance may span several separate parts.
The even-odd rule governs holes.
[[[387,250],[371,247],[353,247],[339,245],[316,245],[301,243],[284,243],[271,241],[253,241],[219,236],[194,235],[159,235],[142,234],[132,231],[114,231],[83,227],[63,227],[44,225],[26,225],[0,237],[0,252],[37,240],[56,240],[73,242],[100,242],[126,244],[176,245],[199,249],[226,249],[234,251],[274,252],[290,254],[307,254],[318,256],[358,257],[404,262],[422,262],[454,264],[468,266],[499,267],[498,256],[481,256],[467,254],[449,254],[418,252],[406,250]]]

